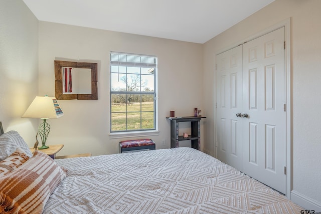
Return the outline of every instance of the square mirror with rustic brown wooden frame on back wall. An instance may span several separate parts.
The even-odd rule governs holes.
[[[97,63],[55,60],[55,97],[57,100],[97,100]]]

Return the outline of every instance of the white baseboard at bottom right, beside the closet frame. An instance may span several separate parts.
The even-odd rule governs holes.
[[[321,203],[315,201],[295,190],[291,191],[291,200],[299,206],[302,206],[307,210],[314,210],[315,212],[321,212]]]

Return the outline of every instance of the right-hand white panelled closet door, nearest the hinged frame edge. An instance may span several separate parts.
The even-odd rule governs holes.
[[[284,28],[243,44],[243,172],[285,193]]]

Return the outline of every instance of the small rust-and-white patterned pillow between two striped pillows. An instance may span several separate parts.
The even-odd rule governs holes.
[[[13,171],[27,160],[29,160],[29,156],[27,156],[27,154],[20,147],[18,147],[16,151],[9,157],[3,161],[0,161],[0,176],[6,175],[8,172]]]

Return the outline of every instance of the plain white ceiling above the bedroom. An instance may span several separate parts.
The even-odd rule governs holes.
[[[23,0],[40,21],[205,43],[274,0]]]

